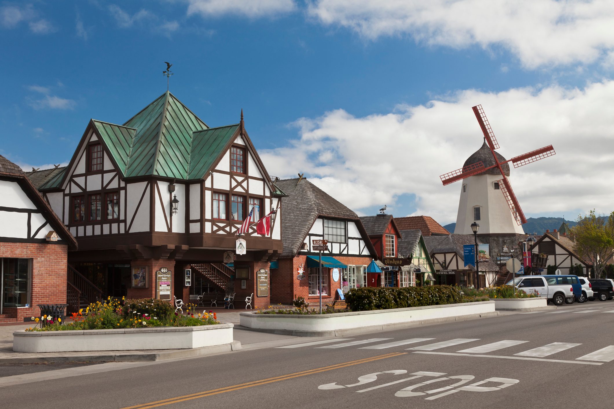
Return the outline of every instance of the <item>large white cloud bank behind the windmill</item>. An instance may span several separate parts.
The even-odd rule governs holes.
[[[456,221],[461,185],[442,186],[439,176],[461,168],[480,148],[482,134],[471,109],[476,104],[483,105],[506,158],[554,145],[557,155],[511,169],[511,184],[527,216],[614,210],[614,191],[604,182],[614,173],[614,81],[582,90],[465,90],[446,101],[400,105],[366,117],[338,109],[301,118],[295,123],[299,139],[261,156],[270,174],[305,172],[354,210],[400,205],[398,196],[415,194],[415,214],[446,224]]]

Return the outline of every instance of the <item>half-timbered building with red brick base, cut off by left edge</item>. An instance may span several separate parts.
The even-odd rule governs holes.
[[[24,172],[0,156],[0,323],[66,303],[68,250],[77,242]]]

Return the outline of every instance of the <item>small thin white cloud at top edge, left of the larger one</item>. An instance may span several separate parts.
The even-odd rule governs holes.
[[[187,0],[188,15],[203,16],[243,15],[256,18],[292,12],[294,0]]]

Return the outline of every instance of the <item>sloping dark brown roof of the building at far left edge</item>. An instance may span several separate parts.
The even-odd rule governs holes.
[[[9,159],[4,158],[2,155],[0,155],[0,174],[17,179],[17,183],[24,189],[36,207],[41,210],[42,215],[49,221],[50,226],[53,227],[55,232],[61,239],[66,240],[71,250],[77,250],[77,240],[72,236],[68,227],[62,223],[58,215],[53,212],[53,209],[49,203],[45,201],[44,197],[42,197],[42,194],[34,187],[33,183],[19,166],[9,161]]]

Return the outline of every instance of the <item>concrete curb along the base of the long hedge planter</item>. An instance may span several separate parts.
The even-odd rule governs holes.
[[[268,332],[270,334],[278,334],[278,335],[292,335],[294,337],[344,337],[346,335],[360,335],[360,334],[369,334],[371,332],[393,331],[395,329],[419,327],[422,325],[444,324],[444,323],[451,323],[451,322],[456,322],[456,321],[467,321],[468,319],[489,318],[489,317],[498,316],[498,315],[500,314],[495,311],[495,312],[472,314],[472,315],[452,316],[452,317],[446,317],[446,318],[422,319],[420,321],[411,321],[410,323],[384,324],[384,325],[374,325],[374,326],[369,326],[369,327],[337,329],[334,331],[333,330],[332,331],[290,331],[286,329],[248,328],[248,327],[243,327],[240,325],[235,326],[235,328],[244,329],[247,331],[255,331],[255,332]]]

